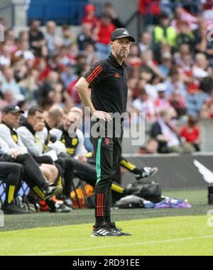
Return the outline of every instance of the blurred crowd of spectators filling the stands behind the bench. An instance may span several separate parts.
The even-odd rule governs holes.
[[[139,152],[200,150],[200,120],[213,119],[212,8],[212,0],[138,1],[137,42],[126,63],[127,110],[143,113],[148,127]],[[15,31],[0,19],[0,110],[9,104],[25,111],[34,104],[47,111],[58,105],[65,113],[82,108],[75,83],[109,55],[111,32],[128,25],[107,1],[99,12],[85,2],[81,14],[79,31],[36,18]]]

